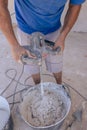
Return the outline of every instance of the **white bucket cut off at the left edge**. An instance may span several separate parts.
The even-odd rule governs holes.
[[[10,108],[7,100],[0,96],[0,130],[2,130],[10,116]]]

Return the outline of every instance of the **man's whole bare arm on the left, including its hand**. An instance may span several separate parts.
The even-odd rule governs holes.
[[[8,0],[0,0],[0,29],[9,41],[13,57],[19,60],[22,54],[26,54],[26,50],[22,48],[13,31],[10,13],[8,11]]]

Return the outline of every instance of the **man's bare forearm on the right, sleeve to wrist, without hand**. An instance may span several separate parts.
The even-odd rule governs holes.
[[[67,34],[70,32],[71,28],[75,24],[79,12],[80,12],[81,5],[69,5],[69,9],[67,11],[67,14],[65,16],[64,25],[61,29],[61,37],[63,40],[65,40]]]

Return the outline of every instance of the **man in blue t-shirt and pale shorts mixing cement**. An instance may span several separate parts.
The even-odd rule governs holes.
[[[28,54],[21,44],[29,44],[30,35],[33,32],[43,33],[48,40],[55,41],[54,49],[60,46],[63,51],[66,36],[76,22],[81,4],[84,1],[69,0],[64,24],[61,27],[60,18],[67,0],[14,0],[19,28],[18,35],[20,35],[19,40],[17,40],[12,29],[8,0],[0,0],[0,29],[9,41],[14,59],[19,61],[21,55]],[[47,57],[47,68],[54,74],[57,83],[61,84],[62,67],[60,66],[62,64],[56,64],[53,59],[54,57]],[[40,74],[38,66],[26,66],[26,68],[31,73],[34,82],[36,84],[39,83]]]

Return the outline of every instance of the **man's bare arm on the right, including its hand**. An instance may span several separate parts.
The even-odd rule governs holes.
[[[81,9],[81,5],[72,5],[69,4],[69,8],[67,10],[65,19],[64,19],[64,24],[60,32],[60,36],[58,37],[55,47],[61,46],[62,50],[64,49],[64,42],[67,34],[70,32],[71,28],[75,24],[79,12]]]

